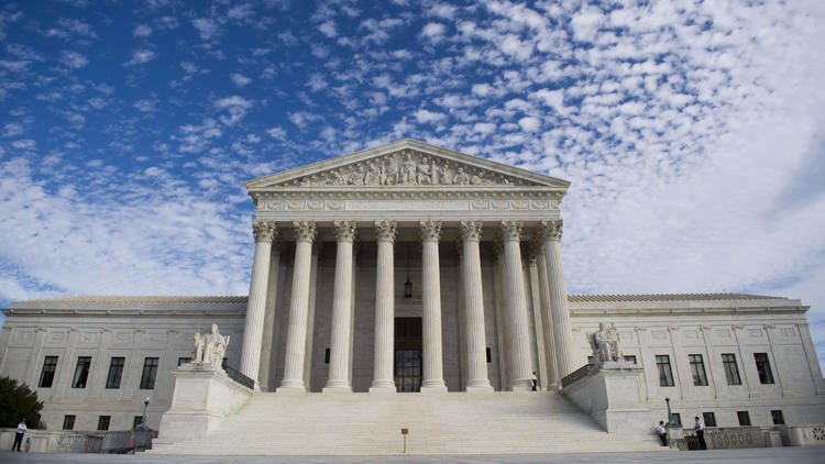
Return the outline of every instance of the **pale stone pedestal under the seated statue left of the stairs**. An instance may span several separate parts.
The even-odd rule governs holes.
[[[224,417],[241,408],[253,390],[232,380],[211,364],[184,364],[173,371],[172,406],[161,418],[157,443],[200,439]]]

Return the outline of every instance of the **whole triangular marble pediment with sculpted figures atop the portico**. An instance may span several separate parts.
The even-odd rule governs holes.
[[[246,188],[514,186],[566,190],[569,185],[554,177],[403,140],[250,180]]]

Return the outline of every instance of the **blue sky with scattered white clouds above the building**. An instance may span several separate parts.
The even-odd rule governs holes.
[[[414,137],[571,180],[571,292],[801,298],[825,360],[825,2],[374,3],[2,2],[0,306],[245,295],[244,180]]]

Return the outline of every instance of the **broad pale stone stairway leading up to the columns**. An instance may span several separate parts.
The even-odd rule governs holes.
[[[258,393],[207,439],[153,453],[374,455],[661,450],[654,435],[604,432],[554,391],[490,394]]]

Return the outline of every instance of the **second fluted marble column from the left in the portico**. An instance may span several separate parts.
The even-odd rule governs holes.
[[[304,355],[307,349],[307,317],[309,311],[309,280],[311,278],[312,242],[316,225],[311,221],[296,221],[295,264],[293,291],[289,298],[289,322],[287,324],[284,379],[278,391],[306,391],[304,384]]]

